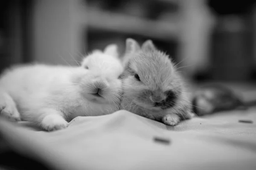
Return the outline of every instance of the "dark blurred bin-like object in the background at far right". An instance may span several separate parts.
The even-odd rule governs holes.
[[[249,16],[220,17],[212,34],[211,77],[217,81],[251,79],[253,31]]]

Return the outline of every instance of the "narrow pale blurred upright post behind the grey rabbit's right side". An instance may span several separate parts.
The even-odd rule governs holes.
[[[207,0],[180,0],[180,44],[178,59],[186,79],[208,71],[209,49],[215,16],[209,9]]]

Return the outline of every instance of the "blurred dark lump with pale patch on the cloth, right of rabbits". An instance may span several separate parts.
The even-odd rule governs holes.
[[[239,107],[247,108],[233,90],[220,84],[208,84],[200,87],[192,98],[192,105],[194,105],[194,113],[198,116]]]

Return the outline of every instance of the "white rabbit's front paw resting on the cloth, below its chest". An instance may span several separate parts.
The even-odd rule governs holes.
[[[61,130],[68,126],[68,122],[60,115],[47,115],[41,122],[42,127],[45,130]]]

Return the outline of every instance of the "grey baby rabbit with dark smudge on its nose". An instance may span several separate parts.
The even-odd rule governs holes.
[[[151,40],[140,48],[128,38],[123,65],[121,109],[166,125],[177,125],[192,117],[191,104],[174,63]]]

